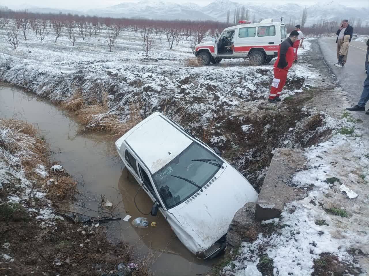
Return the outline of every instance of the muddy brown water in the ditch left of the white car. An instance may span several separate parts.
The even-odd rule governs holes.
[[[76,203],[92,210],[99,210],[101,196],[111,201],[117,217],[131,215],[132,221],[142,217],[133,198],[139,188],[123,163],[114,156],[114,141],[99,133],[82,133],[81,126],[68,112],[63,111],[31,93],[25,93],[8,84],[0,83],[0,117],[16,117],[35,124],[51,145],[51,158],[79,180],[80,195]],[[136,203],[143,213],[149,213],[152,201],[140,190]],[[76,207],[77,208],[77,207]],[[86,208],[77,208],[86,215],[97,213]],[[124,240],[138,249],[141,256],[154,253],[151,259],[154,275],[200,275],[210,269],[215,261],[200,261],[194,258],[171,230],[168,222],[158,213],[157,217],[146,215],[148,221],[157,226],[132,227],[131,222],[111,222],[108,238],[112,242]]]

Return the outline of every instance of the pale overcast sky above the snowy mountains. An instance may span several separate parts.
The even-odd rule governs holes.
[[[85,9],[91,9],[91,8],[102,8],[102,7],[108,7],[113,6],[116,4],[120,4],[123,2],[138,2],[139,0],[62,0],[62,1],[50,1],[50,0],[1,0],[0,5],[6,5],[9,8],[21,8],[26,5],[34,5],[39,7],[49,7],[49,8],[64,8],[64,9],[75,9],[75,10],[85,10]],[[149,0],[152,2],[153,0]],[[159,1],[159,0],[158,0]],[[214,0],[162,0],[163,2],[174,2],[174,3],[196,3],[199,5],[206,5],[208,3],[213,2]],[[256,2],[254,1],[247,1],[247,0],[232,0],[237,3],[248,3],[248,2]],[[278,3],[278,4],[286,4],[286,3],[295,3],[299,5],[312,5],[318,2],[327,2],[330,3],[330,0],[325,1],[315,1],[315,0],[300,0],[300,1],[294,1],[294,0],[262,0],[262,3]],[[352,6],[352,7],[368,7],[369,8],[369,1],[368,0],[351,0],[351,1],[335,1],[337,3],[341,3],[346,6]],[[27,4],[25,4],[27,3]]]

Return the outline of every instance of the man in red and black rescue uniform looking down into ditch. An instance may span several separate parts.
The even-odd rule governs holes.
[[[278,58],[274,63],[274,79],[268,99],[270,103],[280,101],[279,96],[286,84],[288,70],[294,61],[293,44],[298,36],[299,32],[292,31],[290,36],[279,45]]]

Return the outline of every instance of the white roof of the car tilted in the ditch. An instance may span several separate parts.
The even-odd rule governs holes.
[[[193,140],[163,114],[155,112],[129,131],[125,142],[154,174]]]

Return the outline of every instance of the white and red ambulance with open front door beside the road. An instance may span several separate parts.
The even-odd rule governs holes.
[[[250,24],[241,20],[239,25],[225,28],[212,41],[197,44],[194,54],[200,65],[233,58],[248,58],[252,65],[263,65],[277,57],[279,44],[286,37],[287,27],[282,22],[265,19]]]

